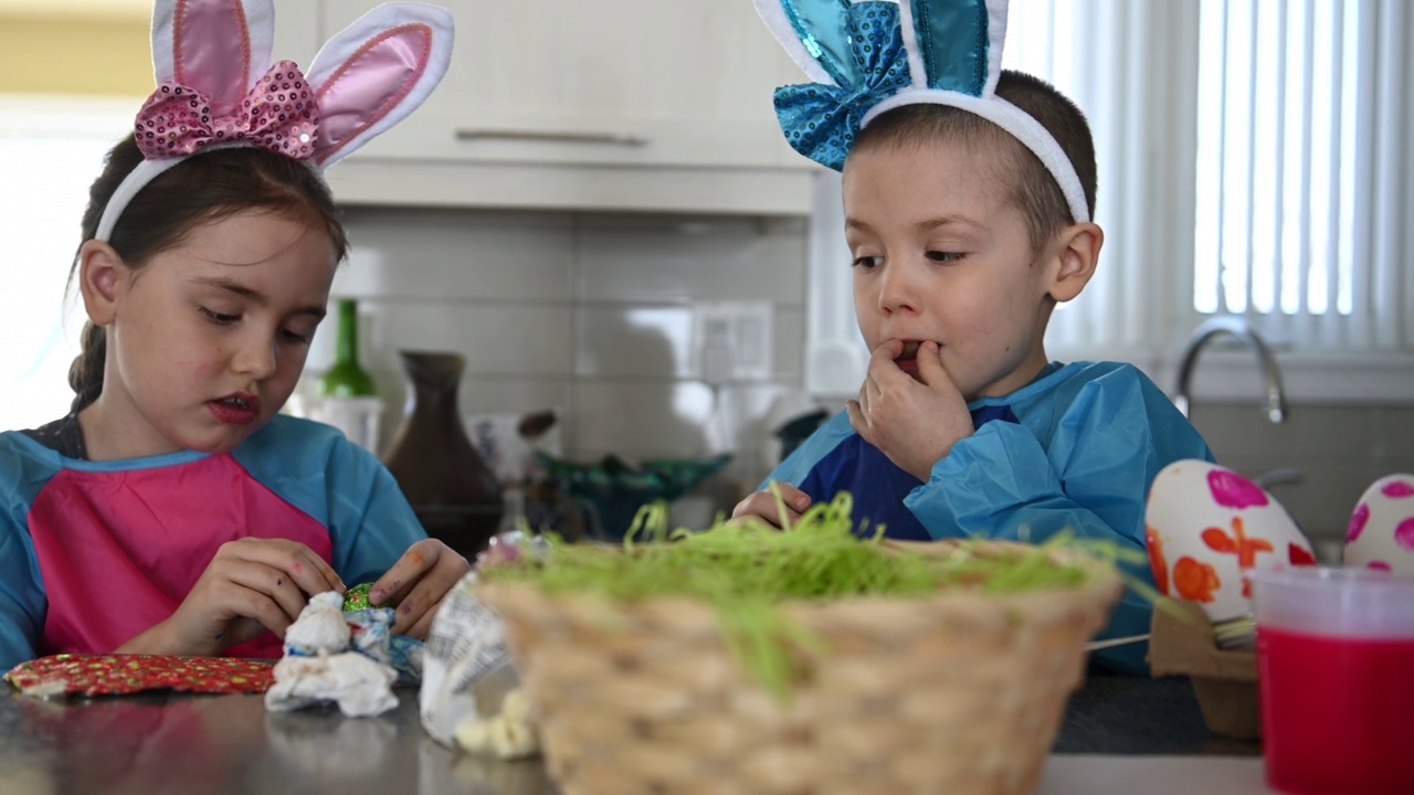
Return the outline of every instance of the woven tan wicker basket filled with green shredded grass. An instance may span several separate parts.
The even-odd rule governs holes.
[[[830,646],[789,703],[738,668],[700,601],[479,594],[506,621],[564,795],[1025,794],[1121,591],[1113,570],[1056,555],[1092,566],[1089,581],[785,605]]]

